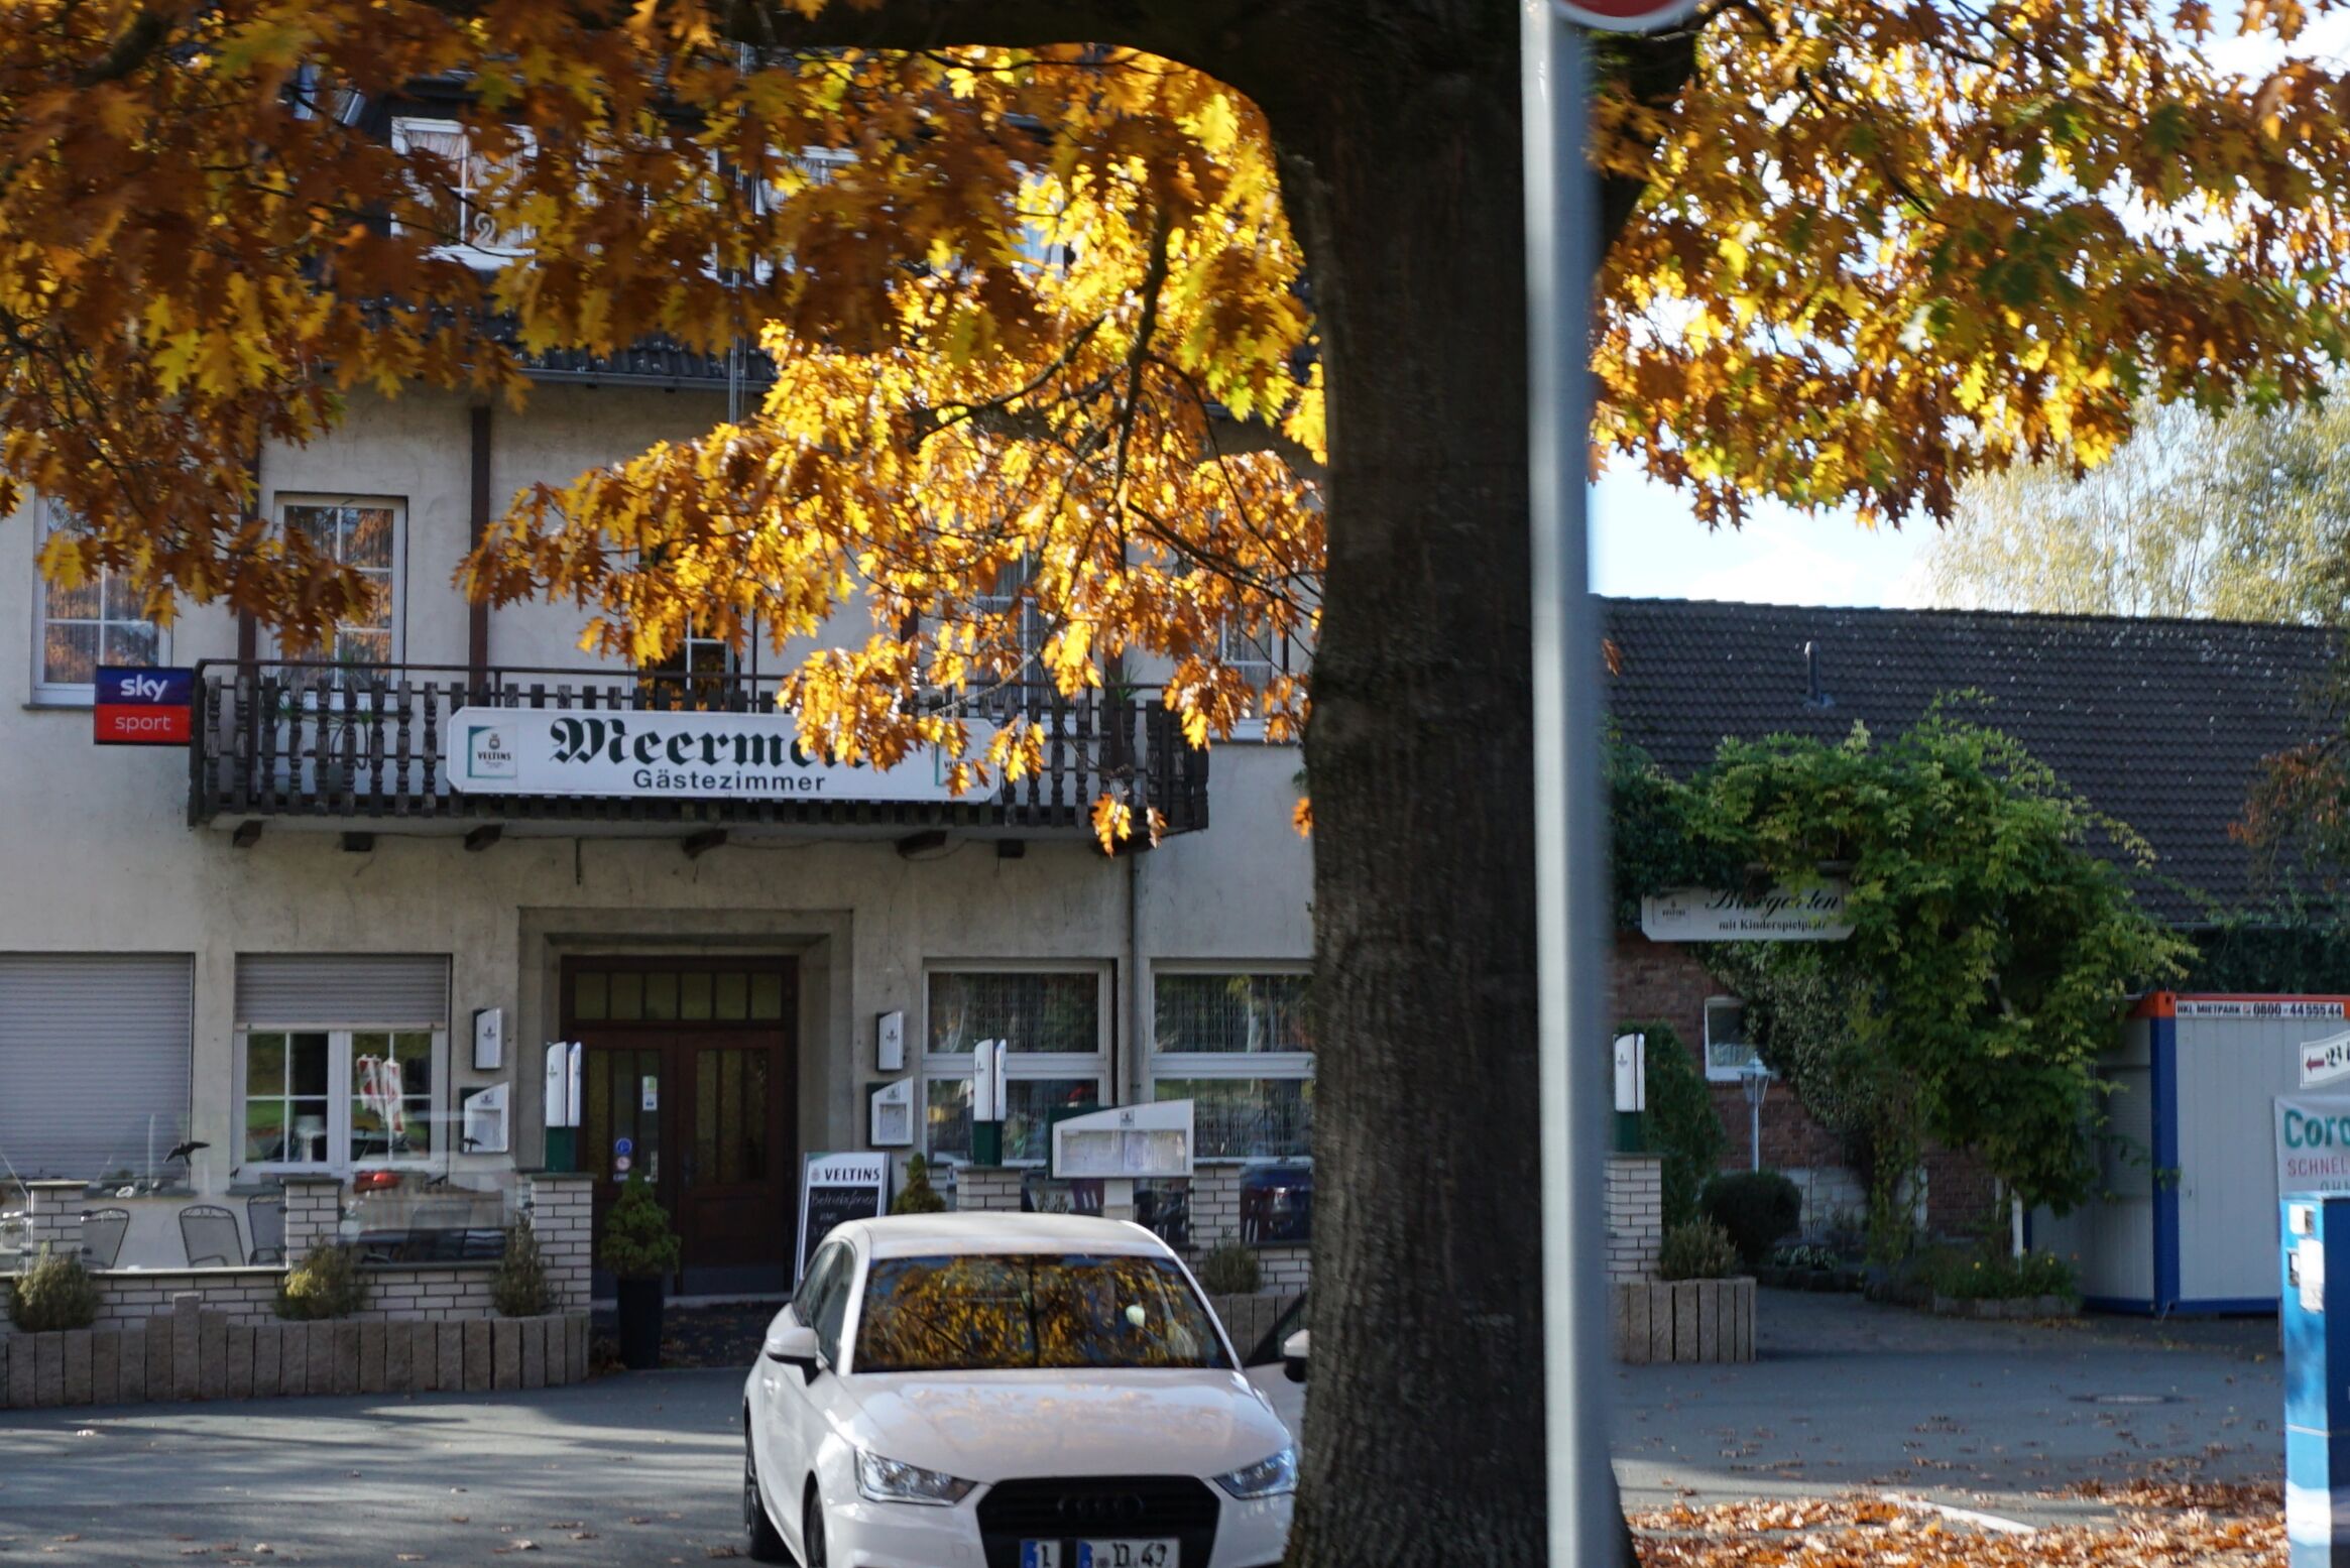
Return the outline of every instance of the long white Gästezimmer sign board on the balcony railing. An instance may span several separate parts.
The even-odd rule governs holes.
[[[987,745],[971,729],[973,750]],[[449,785],[468,795],[954,799],[935,748],[891,769],[825,762],[783,712],[458,708],[449,741]]]

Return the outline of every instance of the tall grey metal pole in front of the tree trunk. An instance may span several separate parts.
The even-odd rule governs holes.
[[[1525,303],[1535,588],[1535,947],[1542,1063],[1542,1328],[1553,1568],[1600,1568],[1622,1516],[1607,1467],[1600,1279],[1605,1077],[1600,947],[1600,628],[1584,477],[1596,200],[1579,33],[1518,0],[1525,85]],[[1582,1048],[1577,1048],[1582,1046]]]

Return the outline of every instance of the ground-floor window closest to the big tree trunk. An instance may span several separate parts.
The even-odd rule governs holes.
[[[1314,1152],[1311,976],[1152,976],[1152,1098],[1191,1100],[1198,1159]]]

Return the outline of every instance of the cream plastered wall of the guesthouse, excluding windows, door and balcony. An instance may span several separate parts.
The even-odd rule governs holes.
[[[724,400],[703,393],[538,388],[524,414],[494,414],[494,503],[691,435],[721,411]],[[451,574],[468,541],[468,461],[465,402],[439,395],[360,395],[338,433],[263,456],[273,515],[287,494],[404,503],[409,663],[465,663],[468,609]],[[634,830],[646,837],[517,830],[468,853],[456,837],[404,835],[400,820],[322,823],[376,832],[364,853],[345,853],[336,832],[287,823],[235,849],[228,825],[186,825],[183,752],[94,748],[87,710],[31,705],[35,548],[26,515],[0,522],[0,952],[195,954],[190,1131],[214,1145],[195,1168],[207,1190],[228,1182],[235,1152],[237,952],[454,954],[451,1079],[458,1091],[489,1081],[465,1067],[463,1020],[479,1006],[510,1009],[522,1164],[538,1157],[536,1046],[555,1027],[552,973],[564,952],[801,954],[801,1147],[862,1145],[858,1086],[879,1077],[874,1018],[905,1011],[909,1063],[919,1060],[926,961],[1114,966],[1116,1079],[1133,1091],[1147,1077],[1137,1041],[1152,1032],[1137,976],[1154,959],[1297,966],[1311,954],[1311,846],[1290,827],[1300,764],[1285,745],[1220,748],[1213,827],[1119,860],[1065,839],[1029,842],[1025,858],[964,842],[909,863],[888,842],[837,830],[738,830],[689,860],[677,846],[684,830],[651,825]],[[848,632],[862,637],[862,618],[853,621]],[[503,609],[491,618],[491,663],[588,668],[576,651],[583,623],[569,604]],[[181,616],[174,663],[233,654],[226,611]]]

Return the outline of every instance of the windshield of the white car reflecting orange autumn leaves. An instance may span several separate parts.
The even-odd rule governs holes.
[[[1208,1307],[1168,1258],[964,1253],[877,1258],[855,1371],[1229,1366]]]

